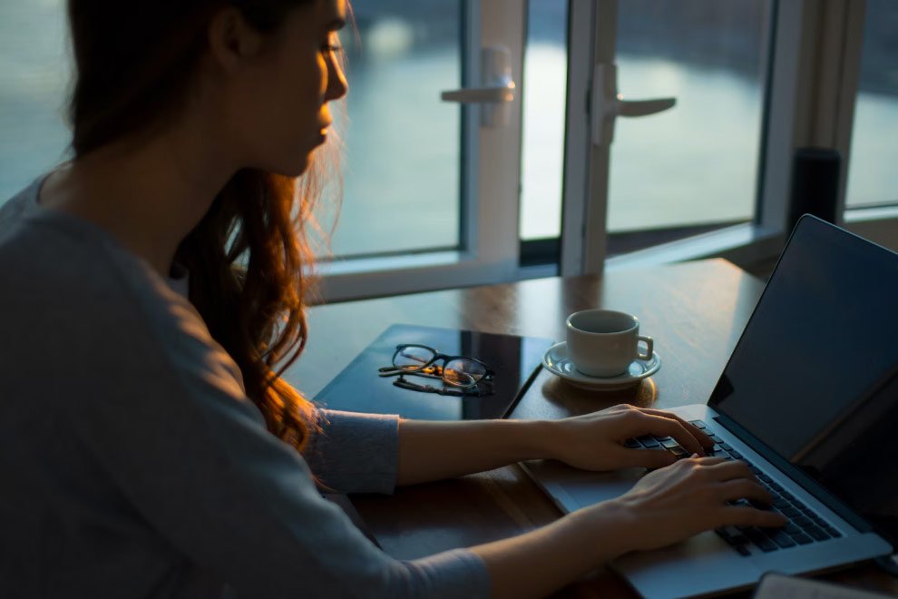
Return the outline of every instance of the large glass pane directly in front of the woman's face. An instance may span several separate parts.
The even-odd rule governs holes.
[[[353,4],[347,48],[344,191],[337,256],[459,245],[458,0]]]

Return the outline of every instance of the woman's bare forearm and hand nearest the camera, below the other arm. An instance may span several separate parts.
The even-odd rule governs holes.
[[[775,512],[725,503],[742,497],[770,500],[745,463],[693,456],[649,473],[619,499],[473,552],[486,563],[493,597],[541,597],[630,551],[724,525],[785,524]]]

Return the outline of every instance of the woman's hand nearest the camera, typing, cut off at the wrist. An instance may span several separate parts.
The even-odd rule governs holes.
[[[769,504],[770,495],[745,462],[723,457],[681,459],[643,476],[630,491],[606,504],[620,508],[630,549],[657,549],[726,525],[782,526],[785,516],[727,501]],[[600,504],[601,506],[601,504]]]

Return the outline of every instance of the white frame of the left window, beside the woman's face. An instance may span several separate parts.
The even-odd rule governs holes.
[[[461,11],[464,86],[480,86],[481,48],[489,45],[504,45],[511,50],[512,74],[519,81],[526,39],[526,3],[463,0]],[[434,98],[434,102],[439,101]],[[510,125],[489,128],[481,126],[477,104],[461,107],[461,249],[322,260],[316,265],[321,278],[318,300],[355,300],[518,277],[520,86],[509,108]]]

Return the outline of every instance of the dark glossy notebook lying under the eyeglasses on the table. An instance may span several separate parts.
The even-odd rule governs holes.
[[[396,377],[378,377],[392,364],[397,345],[417,343],[450,356],[477,358],[495,371],[493,395],[454,397],[393,385]],[[419,420],[476,420],[506,417],[535,377],[549,339],[498,335],[471,330],[396,324],[386,329],[315,397],[318,405],[350,412],[398,414]],[[439,380],[406,377],[416,383]]]

